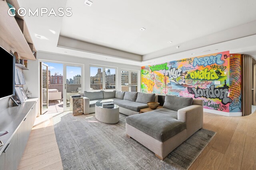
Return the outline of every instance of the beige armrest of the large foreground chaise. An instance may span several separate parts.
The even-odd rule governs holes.
[[[203,106],[192,105],[178,110],[178,120],[186,122],[187,138],[203,127]]]

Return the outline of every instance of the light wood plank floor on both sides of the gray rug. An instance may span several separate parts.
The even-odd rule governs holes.
[[[44,120],[43,116],[37,119]],[[217,133],[190,170],[256,169],[256,113],[247,117],[204,113],[204,129]],[[18,168],[63,169],[52,118],[32,129]]]

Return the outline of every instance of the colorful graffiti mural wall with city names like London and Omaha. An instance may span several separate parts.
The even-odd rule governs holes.
[[[225,51],[142,66],[142,92],[202,99],[206,109],[239,112],[240,59]]]

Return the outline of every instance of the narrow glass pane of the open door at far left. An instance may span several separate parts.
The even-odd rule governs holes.
[[[48,108],[48,76],[47,76],[47,66],[42,65],[42,113],[44,113],[44,110]]]

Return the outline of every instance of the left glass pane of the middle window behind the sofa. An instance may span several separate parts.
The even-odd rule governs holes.
[[[102,70],[100,67],[90,67],[90,90],[102,90]]]

